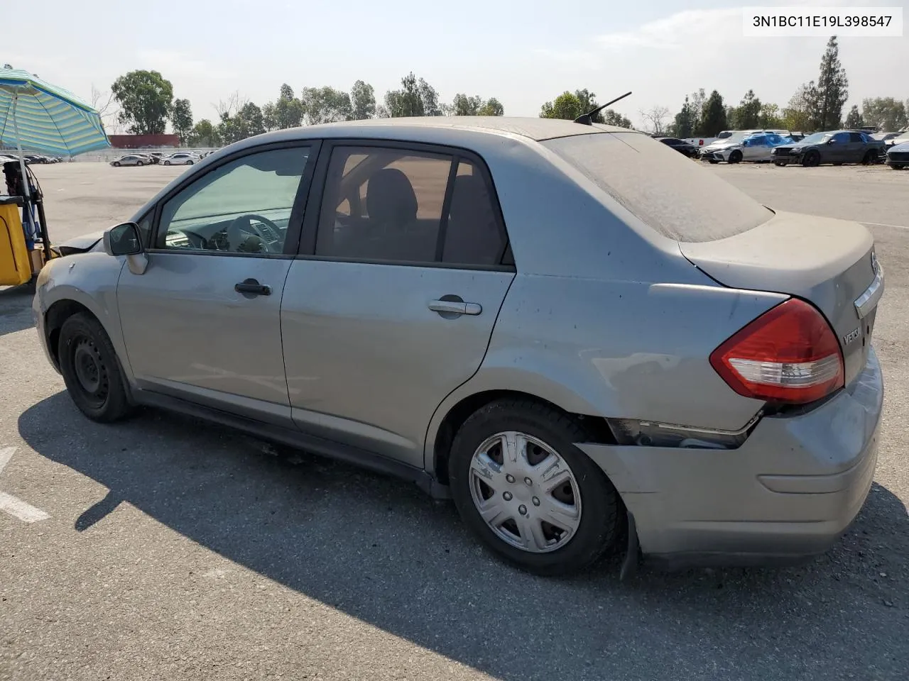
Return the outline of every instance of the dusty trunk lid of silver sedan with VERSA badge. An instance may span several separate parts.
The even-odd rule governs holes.
[[[777,212],[746,232],[711,242],[679,242],[679,248],[724,286],[813,303],[843,350],[846,384],[863,370],[884,278],[874,239],[861,224]]]

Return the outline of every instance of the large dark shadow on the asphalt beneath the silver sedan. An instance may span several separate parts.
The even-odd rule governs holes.
[[[451,505],[412,485],[195,419],[148,410],[102,426],[58,393],[18,428],[38,454],[109,490],[68,520],[75,531],[128,502],[264,577],[498,678],[904,670],[909,523],[876,484],[844,540],[800,568],[644,565],[620,582],[611,557],[547,579],[491,558]]]

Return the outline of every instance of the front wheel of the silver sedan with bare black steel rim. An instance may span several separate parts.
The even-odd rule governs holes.
[[[99,321],[74,314],[60,329],[57,349],[66,390],[85,416],[110,423],[130,413],[114,345]]]

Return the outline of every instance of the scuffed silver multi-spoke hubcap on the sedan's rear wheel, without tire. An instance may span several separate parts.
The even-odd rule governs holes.
[[[543,440],[525,433],[496,433],[476,449],[470,491],[495,535],[524,551],[562,548],[581,523],[572,469]]]

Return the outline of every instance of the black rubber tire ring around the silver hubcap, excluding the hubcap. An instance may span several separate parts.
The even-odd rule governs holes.
[[[474,504],[470,478],[474,452],[484,440],[507,430],[542,440],[574,474],[581,518],[574,536],[561,548],[533,553],[512,546],[495,534]],[[624,507],[612,483],[593,460],[574,446],[574,442],[590,439],[573,419],[531,400],[496,400],[475,411],[458,429],[448,460],[454,505],[464,523],[496,555],[529,572],[556,576],[590,567],[618,543],[624,518]]]

